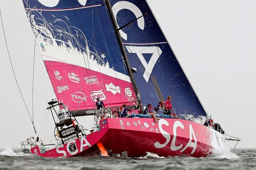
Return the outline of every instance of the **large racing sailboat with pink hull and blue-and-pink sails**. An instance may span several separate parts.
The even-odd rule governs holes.
[[[21,142],[43,157],[102,154],[218,156],[229,150],[166,40],[146,0],[23,0],[56,97],[48,102],[55,143]],[[142,112],[172,97],[173,115]],[[96,114],[90,133],[76,117]],[[115,117],[120,106],[133,109]],[[113,114],[112,114],[113,113]],[[28,148],[29,147],[29,148]]]

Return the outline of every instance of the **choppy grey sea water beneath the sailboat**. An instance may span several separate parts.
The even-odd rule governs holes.
[[[207,158],[88,156],[43,158],[21,149],[0,149],[0,170],[256,170],[256,149],[235,149]]]

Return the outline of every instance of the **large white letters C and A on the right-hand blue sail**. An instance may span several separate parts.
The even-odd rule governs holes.
[[[140,9],[136,5],[134,5],[133,3],[127,2],[127,1],[119,1],[119,2],[116,2],[116,4],[114,4],[113,7],[112,7],[115,18],[116,18],[117,13],[121,9],[128,9],[128,10],[132,11],[133,14],[135,14],[136,18],[143,15],[142,12],[140,11]],[[137,20],[137,22],[135,22],[135,23],[138,24],[138,27],[141,30],[144,30],[145,21],[144,21],[143,17],[139,18]],[[135,23],[133,23],[133,24],[135,24]],[[119,27],[119,25],[118,25],[118,27]],[[128,39],[127,38],[128,36],[125,32],[123,32],[122,30],[119,30],[119,33],[121,34],[121,37],[123,39],[125,39],[125,40]],[[162,53],[161,49],[158,46],[140,46],[140,47],[138,47],[138,46],[126,46],[126,49],[128,50],[129,53],[137,54],[137,56],[140,59],[140,62],[145,67],[143,78],[145,79],[146,82],[148,82],[150,74],[151,74],[151,72],[154,68],[154,65],[156,64],[157,59],[160,57],[160,55]],[[148,63],[146,62],[146,60],[145,60],[145,58],[143,57],[142,54],[152,54]]]

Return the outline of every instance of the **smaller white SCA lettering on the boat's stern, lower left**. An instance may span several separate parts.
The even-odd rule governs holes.
[[[78,141],[78,139],[77,139],[77,141]],[[69,150],[69,145],[71,145],[73,143],[76,143],[76,148],[77,149],[75,151],[71,152]],[[77,154],[78,151],[82,152],[83,151],[83,147],[86,147],[86,146],[91,147],[90,143],[85,139],[84,136],[82,136],[81,140],[80,140],[80,143],[76,142],[76,140],[73,140],[73,141],[67,143],[66,148],[64,148],[64,146],[61,145],[61,146],[56,148],[56,151],[57,151],[58,154],[63,154],[63,156],[66,157],[67,152],[69,154],[71,154],[71,155],[74,155],[74,154]],[[60,156],[60,157],[62,157],[62,156]]]

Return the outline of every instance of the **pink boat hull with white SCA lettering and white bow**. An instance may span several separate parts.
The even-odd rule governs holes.
[[[103,145],[109,156],[123,157],[145,156],[147,152],[164,157],[206,157],[220,155],[225,150],[222,134],[183,119],[154,122],[152,118],[107,118],[100,121],[100,127],[100,131],[44,153],[38,152],[38,146],[31,152],[44,157],[92,156],[100,154],[97,143]],[[72,144],[76,149],[70,151]]]

